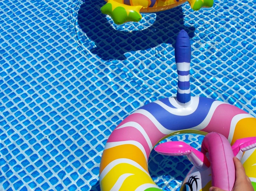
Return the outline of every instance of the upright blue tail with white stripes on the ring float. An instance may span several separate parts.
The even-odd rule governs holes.
[[[191,61],[191,44],[186,31],[181,30],[175,43],[175,61],[178,72],[178,90],[176,100],[186,107],[191,100],[189,69]]]

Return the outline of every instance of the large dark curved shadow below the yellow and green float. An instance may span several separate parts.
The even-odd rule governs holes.
[[[190,38],[194,36],[195,28],[184,26],[185,16],[180,6],[156,13],[156,21],[147,29],[129,32],[111,26],[100,12],[105,3],[104,0],[84,0],[77,17],[82,31],[95,43],[96,47],[91,46],[89,51],[103,60],[125,60],[126,52],[151,49],[162,43],[174,46],[176,36],[182,29]]]

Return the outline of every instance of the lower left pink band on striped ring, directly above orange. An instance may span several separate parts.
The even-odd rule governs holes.
[[[147,157],[149,157],[150,150],[149,145],[140,131],[134,127],[124,127],[121,129],[115,129],[109,136],[107,142],[119,142],[119,141],[137,141],[145,149]]]

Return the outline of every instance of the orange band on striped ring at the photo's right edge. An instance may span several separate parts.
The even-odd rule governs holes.
[[[238,121],[231,145],[234,144],[237,139],[246,137],[256,137],[256,118],[244,118]]]

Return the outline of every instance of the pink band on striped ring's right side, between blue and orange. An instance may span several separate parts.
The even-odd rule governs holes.
[[[215,109],[210,123],[202,131],[215,131],[228,138],[233,117],[241,113],[246,112],[230,104],[221,104]]]

